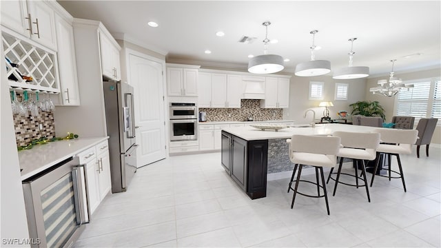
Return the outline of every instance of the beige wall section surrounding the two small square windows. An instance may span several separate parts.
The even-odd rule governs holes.
[[[322,101],[331,101],[334,107],[328,107],[329,116],[338,118],[337,112],[351,112],[349,104],[365,99],[366,79],[336,80],[331,75],[302,77],[292,76],[289,85],[289,109],[285,109],[283,118],[294,120],[296,124],[310,123],[312,114],[309,112],[307,118],[303,118],[305,111],[308,109],[316,112],[316,121],[320,121],[323,116],[325,107],[318,107],[320,101],[309,100],[309,81],[320,81],[324,83],[324,99]],[[336,83],[349,83],[349,96],[347,101],[334,100],[334,91]]]

